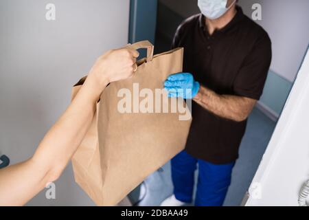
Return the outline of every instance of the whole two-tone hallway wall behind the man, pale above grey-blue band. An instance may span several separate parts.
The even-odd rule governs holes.
[[[251,17],[253,3],[262,5],[262,21],[273,44],[273,61],[260,104],[272,115],[279,115],[290,93],[309,44],[308,0],[240,0]]]

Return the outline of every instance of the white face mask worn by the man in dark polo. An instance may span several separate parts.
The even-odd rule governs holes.
[[[236,3],[236,0],[227,8],[227,0],[198,0],[198,8],[207,19],[220,18]]]

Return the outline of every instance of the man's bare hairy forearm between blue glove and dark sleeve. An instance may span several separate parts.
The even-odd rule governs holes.
[[[218,95],[203,86],[193,100],[211,113],[236,122],[246,120],[256,103],[251,98]]]

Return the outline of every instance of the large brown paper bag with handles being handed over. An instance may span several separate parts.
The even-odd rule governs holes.
[[[182,151],[191,124],[191,115],[188,120],[179,120],[182,115],[179,111],[163,113],[164,107],[171,106],[172,98],[162,98],[161,107],[155,106],[159,113],[136,111],[136,103],[140,104],[146,96],[133,100],[128,108],[132,113],[119,111],[119,106],[128,107],[128,103],[121,104],[125,99],[119,94],[130,91],[132,96],[136,95],[137,87],[139,91],[148,89],[155,94],[155,89],[163,90],[163,82],[170,74],[181,72],[183,67],[183,48],[152,56],[153,46],[148,41],[129,46],[135,50],[147,48],[147,58],[138,62],[133,78],[106,87],[91,127],[72,158],[76,182],[98,206],[116,205],[148,175]],[[84,80],[73,87],[72,97]]]

